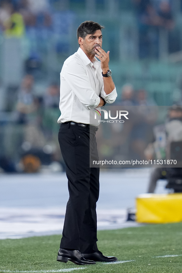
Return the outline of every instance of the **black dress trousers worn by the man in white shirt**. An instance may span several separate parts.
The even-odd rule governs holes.
[[[99,198],[99,168],[90,168],[91,158],[99,160],[95,132],[62,124],[58,139],[69,190],[60,247],[93,253],[98,251],[96,202]]]

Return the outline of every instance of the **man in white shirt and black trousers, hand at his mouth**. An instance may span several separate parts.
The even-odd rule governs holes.
[[[109,51],[102,49],[102,29],[93,21],[78,27],[79,49],[67,58],[60,73],[59,145],[66,165],[69,200],[59,262],[95,264],[117,260],[104,256],[97,248],[99,168],[90,168],[90,157],[99,160],[95,141],[98,121],[90,121],[90,112],[106,102],[113,103],[117,97],[110,77]]]

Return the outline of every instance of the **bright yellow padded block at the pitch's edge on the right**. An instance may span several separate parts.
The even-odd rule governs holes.
[[[141,194],[136,198],[138,223],[175,223],[182,221],[182,193]]]

